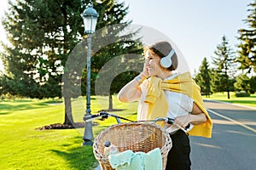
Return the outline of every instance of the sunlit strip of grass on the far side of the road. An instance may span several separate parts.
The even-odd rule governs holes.
[[[212,94],[210,98],[203,96],[203,99],[219,100],[229,102],[238,105],[247,105],[256,107],[256,94],[251,94],[250,97],[236,97],[235,93],[230,93],[230,99],[228,99],[227,93]]]

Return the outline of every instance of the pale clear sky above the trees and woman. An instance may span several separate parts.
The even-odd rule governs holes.
[[[7,9],[7,0],[1,1],[0,15]],[[218,44],[225,36],[236,50],[237,31],[247,28],[247,4],[253,0],[125,0],[129,6],[127,19],[132,24],[151,27],[175,42],[189,65],[198,71],[204,57],[211,64]],[[0,38],[5,39],[3,26]],[[0,61],[0,69],[1,69]]]

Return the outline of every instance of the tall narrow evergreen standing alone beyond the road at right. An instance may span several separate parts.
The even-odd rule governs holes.
[[[235,56],[226,37],[222,37],[221,44],[212,57],[212,64],[215,65],[212,73],[212,90],[214,92],[227,92],[230,99],[230,90],[234,87],[233,76],[235,74]]]

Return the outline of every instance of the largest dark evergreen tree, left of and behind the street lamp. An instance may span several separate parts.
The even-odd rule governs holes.
[[[8,32],[11,45],[3,44],[6,52],[3,60],[8,66],[7,74],[3,78],[4,83],[1,84],[15,95],[43,99],[61,97],[61,77],[65,72],[69,74],[68,77],[75,77],[63,85],[63,89],[69,87],[63,93],[65,124],[73,124],[71,98],[80,95],[77,88],[70,87],[73,85],[81,88],[81,81],[77,77],[83,77],[83,80],[86,76],[85,69],[83,72],[77,72],[65,64],[73,48],[83,38],[84,27],[80,14],[88,3],[89,0],[83,2],[80,0],[10,1],[9,11],[3,19],[3,26]],[[122,23],[128,12],[124,3],[116,3],[114,0],[94,3],[94,8],[100,14],[96,29]],[[130,22],[123,23],[125,25],[118,31],[125,29]],[[108,33],[111,34],[110,31]],[[137,48],[137,43],[131,46],[127,44],[126,46],[133,47],[133,50]],[[87,43],[83,42],[80,45],[85,48]],[[85,56],[84,54],[86,53],[83,51],[78,55]],[[100,55],[98,53],[98,59],[102,59]],[[92,68],[92,71],[98,71],[93,63],[92,67],[95,68]],[[74,64],[79,68],[81,66],[79,59]]]

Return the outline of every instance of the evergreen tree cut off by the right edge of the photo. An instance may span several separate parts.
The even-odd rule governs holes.
[[[248,5],[250,8],[247,10],[250,14],[247,16],[247,20],[244,20],[247,24],[247,29],[240,29],[238,32],[240,36],[240,44],[238,45],[239,56],[237,61],[240,63],[241,70],[247,70],[248,73],[256,72],[256,1]]]

